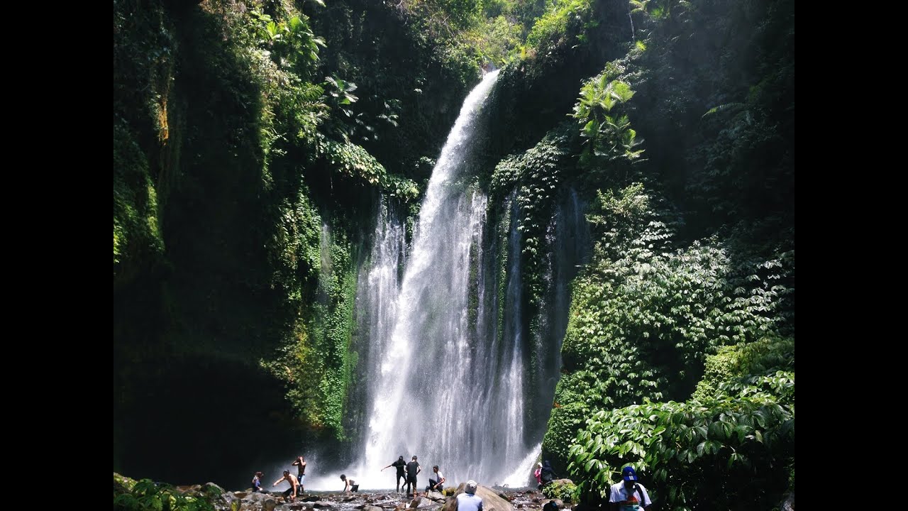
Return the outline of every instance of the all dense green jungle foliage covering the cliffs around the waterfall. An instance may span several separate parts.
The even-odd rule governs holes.
[[[794,33],[792,0],[114,0],[114,470],[350,455],[377,201],[417,213],[494,64],[477,180],[492,217],[515,201],[528,331],[558,201],[581,197],[592,237],[543,457],[587,506],[628,464],[659,508],[778,506]],[[223,446],[262,438],[237,470]]]

